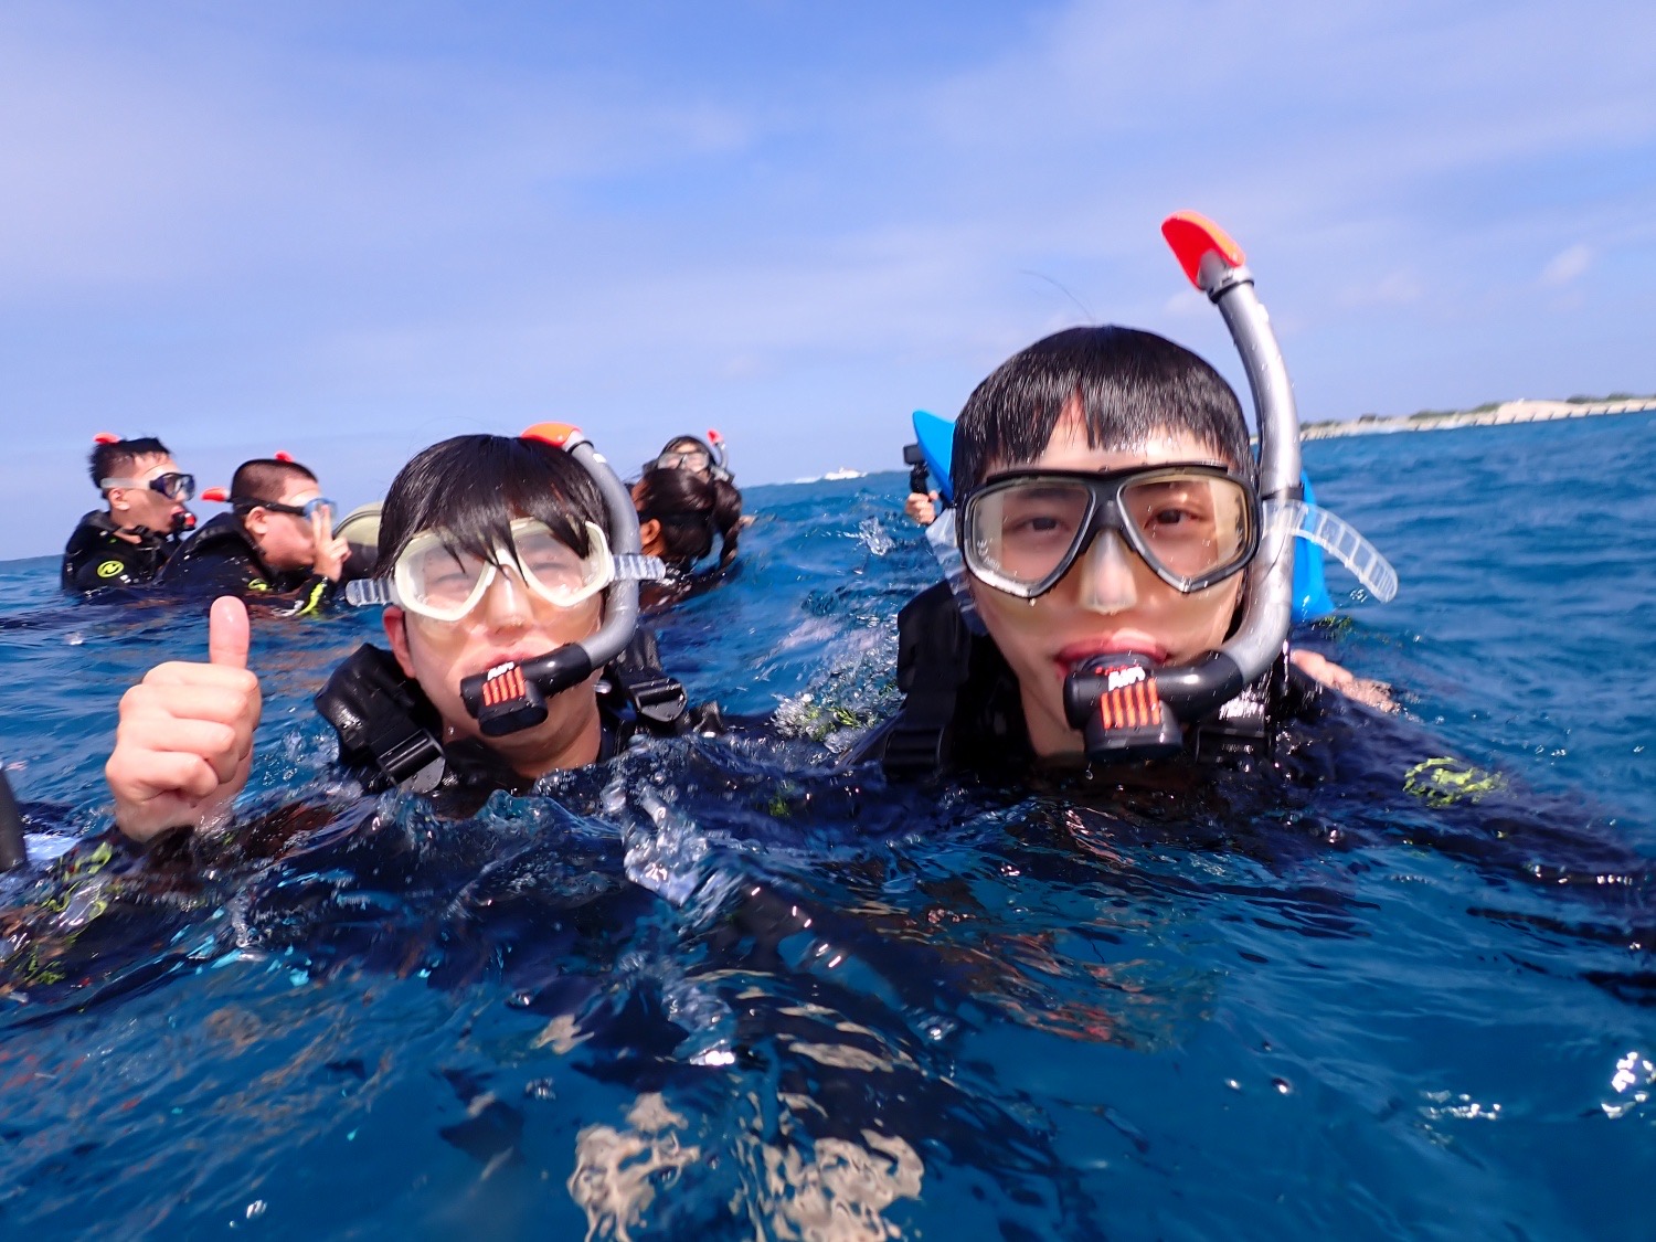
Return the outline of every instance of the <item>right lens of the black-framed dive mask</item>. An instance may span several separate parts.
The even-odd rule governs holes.
[[[1234,479],[1167,472],[1128,482],[1121,517],[1144,558],[1174,578],[1234,568],[1254,542],[1254,508]]]

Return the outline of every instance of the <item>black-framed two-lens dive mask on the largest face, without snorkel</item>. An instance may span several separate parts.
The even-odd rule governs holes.
[[[1126,470],[1012,470],[960,507],[960,553],[975,578],[1035,599],[1103,530],[1186,595],[1220,583],[1259,550],[1254,487],[1201,462]]]

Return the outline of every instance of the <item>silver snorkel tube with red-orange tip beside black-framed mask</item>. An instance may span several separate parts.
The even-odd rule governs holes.
[[[1288,369],[1254,293],[1242,248],[1196,212],[1163,220],[1161,233],[1184,275],[1225,318],[1242,354],[1259,422],[1259,551],[1249,566],[1242,619],[1217,651],[1187,664],[1156,666],[1148,656],[1111,652],[1083,661],[1063,684],[1063,709],[1080,729],[1090,760],[1156,758],[1184,747],[1182,725],[1235,699],[1282,654],[1293,618],[1293,528],[1273,520],[1283,503],[1303,500],[1300,417]]]

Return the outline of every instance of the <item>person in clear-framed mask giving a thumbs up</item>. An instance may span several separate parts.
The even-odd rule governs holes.
[[[341,762],[371,788],[527,788],[608,758],[633,729],[707,727],[652,652],[628,651],[638,580],[662,571],[638,546],[624,485],[573,429],[416,455],[386,495],[376,576],[346,590],[384,606],[391,649],[359,647],[316,696]],[[106,777],[128,836],[209,823],[247,783],[247,643],[242,603],[217,599],[210,661],[161,664],[123,697]]]

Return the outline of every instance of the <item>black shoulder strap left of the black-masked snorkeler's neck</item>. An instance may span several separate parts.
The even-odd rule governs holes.
[[[879,760],[888,777],[924,777],[944,765],[956,700],[970,667],[972,634],[949,585],[937,583],[909,599],[898,613],[903,707],[886,727]]]

